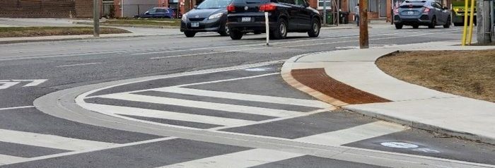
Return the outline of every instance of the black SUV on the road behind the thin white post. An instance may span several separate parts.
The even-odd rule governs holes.
[[[321,16],[304,0],[233,0],[227,6],[231,38],[239,40],[246,32],[266,32],[264,12],[269,12],[269,35],[284,39],[287,32],[308,32],[318,37]]]

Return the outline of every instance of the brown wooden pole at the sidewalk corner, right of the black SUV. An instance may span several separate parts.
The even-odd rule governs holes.
[[[359,0],[359,48],[368,47],[368,0]]]

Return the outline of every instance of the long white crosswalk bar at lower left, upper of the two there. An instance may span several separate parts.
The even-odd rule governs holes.
[[[11,131],[6,129],[0,129],[0,135],[0,141],[2,142],[34,145],[60,150],[86,150],[89,148],[106,148],[115,145],[114,143],[81,140],[23,131]]]

